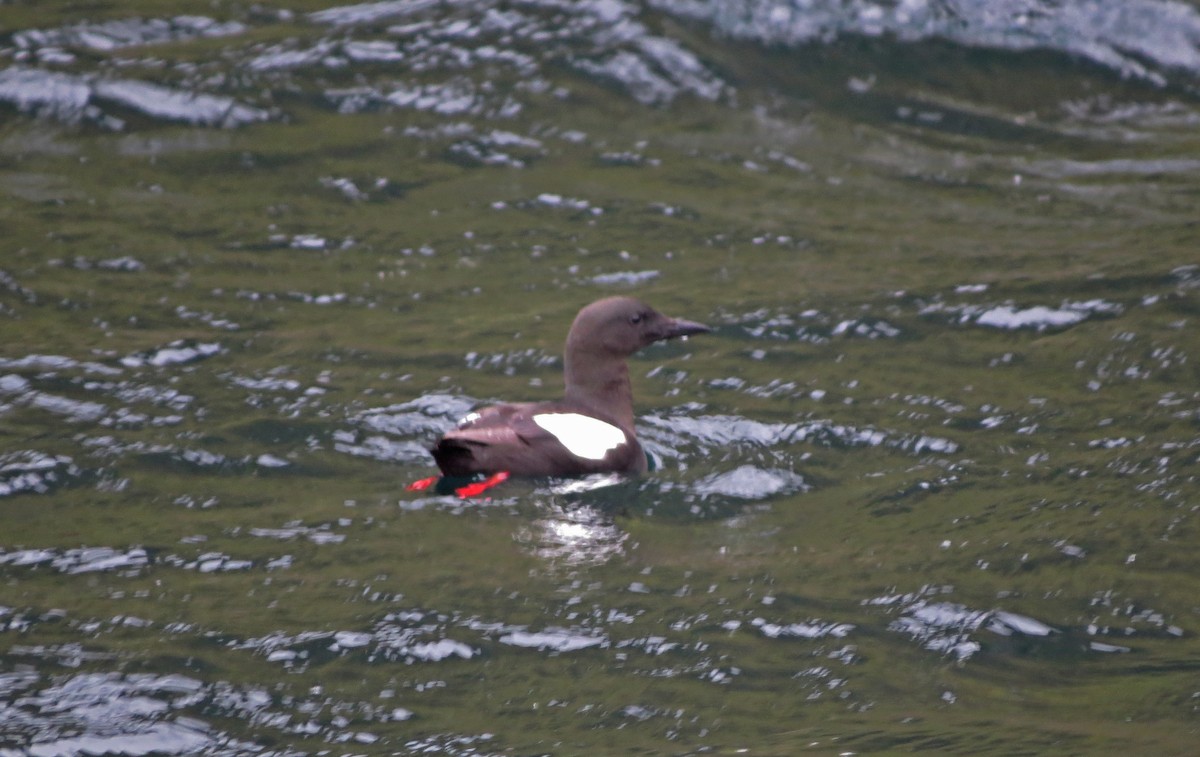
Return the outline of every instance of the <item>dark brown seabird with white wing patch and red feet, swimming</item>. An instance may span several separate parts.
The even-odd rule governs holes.
[[[456,489],[460,495],[478,494],[509,475],[642,473],[646,452],[634,432],[625,359],[654,342],[707,331],[704,324],[670,318],[634,298],[598,300],[580,311],[566,335],[562,399],[470,413],[433,445],[433,459],[446,477],[490,476]]]

